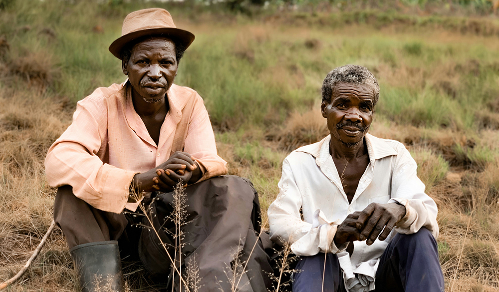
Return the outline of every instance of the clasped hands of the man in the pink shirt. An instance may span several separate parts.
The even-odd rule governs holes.
[[[165,167],[156,170],[153,188],[158,191],[172,191],[178,181],[194,183],[201,177],[201,171],[194,158],[187,152],[175,152]]]

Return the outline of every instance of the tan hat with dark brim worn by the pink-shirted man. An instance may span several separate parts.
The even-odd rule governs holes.
[[[121,37],[113,41],[109,51],[121,60],[121,50],[130,41],[145,35],[174,37],[187,48],[194,41],[194,34],[179,29],[170,12],[163,8],[148,8],[131,12],[123,20]]]

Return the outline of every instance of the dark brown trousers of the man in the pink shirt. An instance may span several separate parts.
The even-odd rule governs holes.
[[[194,184],[185,189],[187,221],[182,266],[195,259],[204,292],[231,291],[228,277],[230,267],[240,251],[240,260],[247,263],[241,291],[260,292],[269,288],[268,274],[272,273],[269,258],[262,244],[268,235],[260,231],[258,196],[252,184],[243,178],[222,176]],[[161,240],[172,245],[168,217],[172,212],[172,194],[161,193],[151,203],[148,213],[153,217]],[[76,198],[72,188],[59,188],[54,204],[54,220],[62,229],[69,248],[77,245],[117,240],[123,258],[135,256],[146,270],[162,283],[178,285],[173,279],[168,256],[158,236],[149,228],[137,228],[143,216],[128,212],[114,214],[97,210]],[[142,222],[149,225],[148,222]],[[175,251],[169,251],[174,254]],[[229,268],[228,268],[229,267]],[[229,269],[229,270],[228,270]],[[185,268],[183,268],[185,271]],[[178,275],[177,275],[178,276]]]

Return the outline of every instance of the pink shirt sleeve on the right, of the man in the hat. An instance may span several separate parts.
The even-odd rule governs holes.
[[[227,174],[227,162],[217,154],[215,135],[203,99],[196,93],[190,118],[185,151],[200,165],[203,176],[199,181]]]

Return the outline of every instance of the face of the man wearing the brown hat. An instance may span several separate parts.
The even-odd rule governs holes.
[[[148,103],[161,101],[177,75],[175,43],[165,37],[146,39],[134,45],[123,73],[128,75],[134,96]]]

